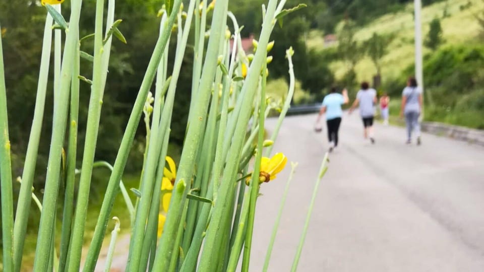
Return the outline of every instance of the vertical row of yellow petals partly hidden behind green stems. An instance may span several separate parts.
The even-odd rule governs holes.
[[[158,215],[158,238],[163,232],[163,226],[166,220],[166,213],[168,213],[168,208],[170,205],[171,191],[173,190],[173,185],[176,179],[176,166],[172,158],[166,156],[166,162],[168,163],[168,168],[163,169],[163,179],[161,180],[161,208],[160,214]]]

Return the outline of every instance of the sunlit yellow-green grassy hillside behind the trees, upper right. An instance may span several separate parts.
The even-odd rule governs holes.
[[[479,31],[475,16],[483,9],[484,2],[481,0],[448,0],[425,7],[422,10],[422,36],[425,39],[430,21],[438,17],[441,19],[445,44],[473,42]],[[444,18],[445,13],[447,17]],[[413,63],[413,28],[413,5],[407,5],[400,12],[376,18],[356,33],[356,39],[359,41],[367,40],[374,32],[396,35],[389,46],[389,53],[382,61],[384,81],[399,77],[401,71]],[[309,48],[323,49],[323,33],[313,30],[308,35],[307,43]],[[424,54],[429,52],[427,48],[424,49]],[[346,67],[341,61],[331,63],[331,69],[337,79],[346,72]],[[370,81],[376,73],[376,68],[370,59],[365,58],[358,62],[355,71],[358,81]]]

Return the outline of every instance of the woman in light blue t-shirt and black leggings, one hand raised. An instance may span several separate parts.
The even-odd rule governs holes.
[[[329,152],[332,152],[338,146],[338,131],[343,114],[341,105],[348,103],[348,101],[348,91],[344,89],[341,95],[336,92],[335,87],[331,88],[330,94],[326,95],[323,99],[316,124],[319,124],[321,115],[325,114],[328,128]]]

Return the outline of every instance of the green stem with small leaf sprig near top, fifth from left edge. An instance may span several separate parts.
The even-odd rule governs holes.
[[[101,118],[101,105],[104,93],[103,73],[103,54],[109,51],[107,46],[103,47],[102,26],[104,14],[104,0],[96,1],[96,19],[94,34],[94,69],[93,83],[91,86],[91,97],[89,100],[89,111],[86,126],[86,141],[82,158],[81,177],[79,179],[79,189],[76,203],[76,213],[74,215],[74,226],[72,230],[71,251],[69,255],[68,271],[79,271],[81,262],[82,244],[84,241],[84,227],[86,223],[86,213],[89,202],[89,191],[91,187],[92,165],[96,150],[97,135],[99,131],[99,120]]]

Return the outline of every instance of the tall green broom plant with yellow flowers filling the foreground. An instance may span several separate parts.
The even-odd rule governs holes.
[[[301,6],[285,10],[285,0],[269,0],[267,8],[263,5],[262,30],[259,40],[254,40],[254,55],[246,55],[241,45],[243,27],[238,26],[235,16],[228,10],[228,0],[210,3],[191,0],[187,7],[182,2],[166,0],[158,13],[158,39],[112,165],[94,160],[99,122],[103,118],[104,91],[110,91],[106,79],[111,44],[113,37],[126,42],[118,28],[122,20],[115,21],[115,0],[108,0],[107,9],[104,0],[96,0],[94,33],[81,39],[79,21],[82,0],[71,1],[69,23],[62,15],[61,5],[52,0],[42,2],[47,16],[37,99],[24,171],[19,177],[22,182],[15,221],[0,38],[0,176],[5,271],[17,272],[22,268],[32,197],[40,207],[40,201],[32,193],[32,183],[44,122],[52,32],[55,33],[54,129],[50,135],[34,271],[94,271],[108,221],[116,216],[111,215],[111,211],[119,191],[126,202],[131,223],[129,228],[123,227],[131,230],[127,271],[234,271],[240,261],[243,271],[250,270],[260,186],[270,186],[270,183],[266,183],[273,182],[287,162],[282,153],[272,157],[271,153],[290,106],[295,83],[292,67],[294,52],[289,48],[286,51],[290,81],[287,97],[284,101],[276,101],[266,95],[270,69],[268,63],[272,60],[269,54],[274,44],[274,41],[270,42],[270,36],[283,16]],[[210,24],[207,22],[209,18]],[[63,48],[62,33],[66,34]],[[81,43],[89,42],[91,37],[94,37],[93,52],[81,51]],[[167,151],[171,119],[177,114],[173,111],[177,83],[186,51],[189,50],[189,37],[193,37],[194,44],[192,98],[183,150],[179,163],[175,165],[167,156]],[[171,39],[176,40],[174,50],[168,50]],[[168,66],[170,52],[174,52],[172,67]],[[92,62],[92,80],[80,75],[80,58]],[[86,131],[82,152],[77,150],[80,80],[88,83],[91,89],[87,125],[82,128]],[[150,90],[154,81],[153,97]],[[270,140],[267,140],[265,120],[273,109],[278,110],[279,119]],[[121,178],[140,121],[144,121],[146,128],[143,166],[139,169],[137,188],[128,189]],[[64,145],[65,142],[67,145]],[[82,159],[78,154],[82,154]],[[80,169],[76,169],[78,160],[82,161]],[[93,236],[86,244],[85,219],[95,167],[108,168],[110,178]],[[80,178],[75,195],[77,174],[80,174]],[[64,197],[59,197],[61,186],[64,188]],[[63,207],[62,215],[56,214],[59,206]],[[62,217],[62,227],[59,231],[60,242],[56,244],[58,233],[54,226],[58,217]],[[110,269],[120,230],[119,220],[116,217],[113,219],[116,224],[111,233],[105,271]],[[278,222],[279,219],[274,227],[270,249]],[[87,245],[87,255],[81,267],[84,245]],[[298,255],[301,248],[302,242]],[[270,257],[270,249],[267,258]],[[268,259],[264,269],[267,269],[267,264]]]

